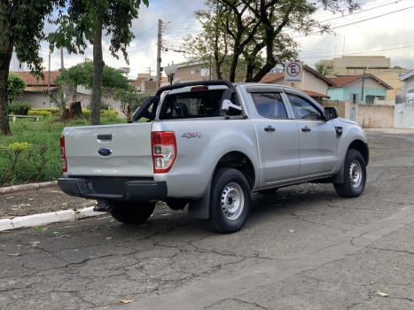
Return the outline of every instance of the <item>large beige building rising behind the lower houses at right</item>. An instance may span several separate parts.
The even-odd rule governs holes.
[[[391,59],[385,56],[342,56],[340,58],[323,59],[322,66],[327,67],[328,76],[372,74],[385,81],[392,89],[387,90],[387,105],[394,105],[395,98],[402,92],[403,82],[399,77],[408,73],[401,67],[391,67]]]

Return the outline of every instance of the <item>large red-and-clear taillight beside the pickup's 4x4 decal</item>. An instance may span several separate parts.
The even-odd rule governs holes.
[[[176,135],[172,131],[154,131],[151,134],[154,174],[165,174],[176,161]]]

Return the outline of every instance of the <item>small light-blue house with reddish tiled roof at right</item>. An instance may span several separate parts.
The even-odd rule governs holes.
[[[332,100],[350,101],[367,105],[385,105],[387,91],[393,89],[373,74],[343,75],[331,78],[328,89]]]

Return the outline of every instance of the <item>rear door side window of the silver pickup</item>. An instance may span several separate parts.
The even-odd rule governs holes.
[[[254,105],[259,114],[268,119],[287,119],[282,97],[278,93],[253,93]]]

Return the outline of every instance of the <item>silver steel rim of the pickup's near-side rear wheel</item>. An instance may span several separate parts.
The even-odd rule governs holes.
[[[224,186],[220,207],[226,219],[230,221],[238,219],[245,208],[245,195],[238,183],[230,182]]]

